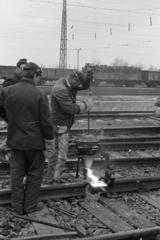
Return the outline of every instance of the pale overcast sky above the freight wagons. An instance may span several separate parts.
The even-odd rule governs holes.
[[[117,58],[160,68],[159,0],[66,1],[67,68]],[[58,67],[63,0],[0,0],[0,6],[0,65],[27,58]]]

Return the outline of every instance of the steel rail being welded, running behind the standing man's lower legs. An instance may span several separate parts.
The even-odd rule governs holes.
[[[59,199],[59,198],[68,198],[68,197],[78,197],[85,196],[86,187],[88,183],[69,183],[69,184],[60,184],[55,186],[44,186],[40,191],[40,199]],[[101,189],[99,187],[93,188],[89,184],[90,191],[99,192]],[[107,188],[107,192],[132,192],[138,190],[151,190],[160,188],[160,177],[137,177],[132,179],[122,178],[115,179],[113,184]],[[10,204],[11,203],[11,190],[3,189],[0,190],[0,205]]]

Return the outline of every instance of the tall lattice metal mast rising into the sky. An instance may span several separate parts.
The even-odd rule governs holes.
[[[67,0],[63,0],[59,68],[67,68]]]

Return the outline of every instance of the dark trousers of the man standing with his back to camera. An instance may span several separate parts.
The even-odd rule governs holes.
[[[42,150],[11,149],[11,203],[17,214],[33,212],[38,204],[45,158]],[[26,176],[26,184],[23,178]]]

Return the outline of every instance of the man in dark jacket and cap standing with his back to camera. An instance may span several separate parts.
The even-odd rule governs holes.
[[[54,153],[48,98],[35,87],[41,74],[41,68],[30,62],[23,68],[21,81],[3,88],[0,94],[0,106],[5,105],[8,118],[12,210],[19,215],[43,208],[38,198],[45,157]]]

